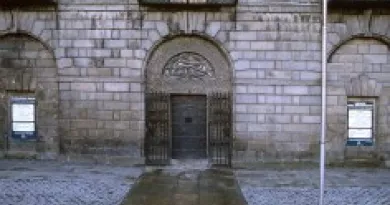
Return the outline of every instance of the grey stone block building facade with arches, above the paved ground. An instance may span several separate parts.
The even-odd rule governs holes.
[[[0,10],[3,155],[144,163],[153,141],[148,94],[164,93],[167,110],[155,116],[167,121],[155,125],[167,130],[154,133],[165,133],[169,159],[172,150],[196,144],[172,142],[175,130],[193,122],[206,140],[196,148],[206,150],[198,155],[204,158],[212,157],[210,136],[218,132],[229,136],[233,163],[318,161],[320,0],[16,2]],[[335,5],[328,18],[327,160],[389,160],[390,5]],[[228,96],[230,122],[213,131],[210,99],[218,93]],[[16,122],[20,98],[35,106],[33,122]],[[185,120],[178,127],[175,100],[177,112],[187,113],[178,115]],[[359,129],[371,135],[349,143],[350,116],[367,117],[349,105],[366,101],[372,123]],[[28,123],[31,139],[17,130]]]

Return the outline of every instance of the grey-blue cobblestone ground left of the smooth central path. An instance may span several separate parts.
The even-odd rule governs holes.
[[[0,161],[1,205],[116,205],[141,169]]]

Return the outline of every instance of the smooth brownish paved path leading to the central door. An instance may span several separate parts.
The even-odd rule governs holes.
[[[122,205],[246,205],[232,171],[156,170],[145,173]]]

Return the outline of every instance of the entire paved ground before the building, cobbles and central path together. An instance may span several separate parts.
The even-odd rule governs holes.
[[[122,205],[244,203],[229,198],[239,192],[231,172],[199,167],[146,172],[146,180],[134,186],[143,168],[0,160],[0,205],[119,205],[126,193]],[[234,175],[249,205],[318,204],[317,168],[236,170]],[[325,204],[390,205],[390,169],[327,169]]]

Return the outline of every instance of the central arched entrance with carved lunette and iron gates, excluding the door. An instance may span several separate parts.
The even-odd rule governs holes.
[[[229,59],[215,43],[199,36],[177,36],[160,43],[148,56],[145,66],[147,163],[169,163],[175,157],[175,96],[204,96],[204,118],[201,128],[206,130],[205,152],[211,163],[230,165],[232,139],[232,68]],[[176,98],[177,99],[177,98]],[[198,98],[200,99],[200,98]],[[189,100],[192,101],[192,100]],[[180,102],[181,103],[181,102]],[[181,105],[180,105],[181,106]],[[183,105],[187,106],[187,105]],[[156,110],[157,109],[157,110]],[[186,111],[183,111],[185,113]],[[217,113],[223,114],[217,114]],[[185,116],[184,116],[185,117]],[[220,125],[215,122],[220,118]],[[190,117],[188,117],[189,119]],[[223,123],[224,122],[224,123]],[[203,127],[204,126],[204,127]],[[153,144],[156,136],[159,145]],[[217,159],[212,140],[223,141]],[[219,143],[220,146],[223,143]],[[156,148],[155,146],[159,146]],[[154,147],[154,148],[153,148]],[[181,148],[177,148],[181,149]],[[155,150],[163,156],[156,157]],[[223,152],[223,153],[222,153]],[[153,159],[165,159],[156,161]]]

